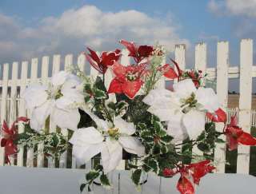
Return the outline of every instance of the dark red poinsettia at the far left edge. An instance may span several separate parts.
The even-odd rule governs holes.
[[[14,121],[14,123],[9,128],[6,124],[6,121],[3,121],[2,124],[2,140],[1,140],[1,147],[5,148],[5,156],[6,156],[6,162],[10,163],[9,156],[13,155],[18,152],[17,145],[14,144],[14,141],[18,135],[18,122],[27,122],[29,121],[26,117],[19,117],[17,121]]]

